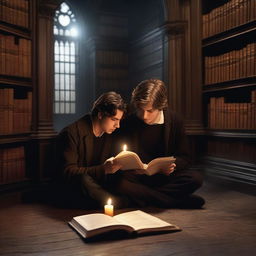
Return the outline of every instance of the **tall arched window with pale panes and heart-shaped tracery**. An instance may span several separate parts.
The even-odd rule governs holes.
[[[76,17],[63,2],[54,17],[54,114],[76,113],[78,43]]]

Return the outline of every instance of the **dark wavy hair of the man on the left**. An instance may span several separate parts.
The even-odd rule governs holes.
[[[118,109],[123,112],[126,110],[126,104],[121,95],[116,92],[106,92],[93,103],[91,115],[93,118],[98,113],[101,113],[102,117],[115,116]]]

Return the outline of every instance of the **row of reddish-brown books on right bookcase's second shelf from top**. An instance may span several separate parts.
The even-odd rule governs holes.
[[[240,50],[204,58],[204,84],[214,84],[256,75],[256,43]]]

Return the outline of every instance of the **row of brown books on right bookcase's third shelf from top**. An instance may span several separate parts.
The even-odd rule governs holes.
[[[212,97],[208,104],[208,128],[256,130],[256,91],[249,103],[226,103],[224,97]]]

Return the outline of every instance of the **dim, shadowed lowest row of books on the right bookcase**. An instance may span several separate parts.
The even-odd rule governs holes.
[[[208,155],[235,161],[255,163],[256,145],[252,141],[209,140]]]

